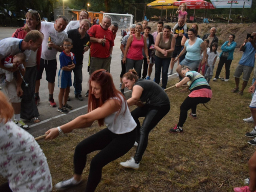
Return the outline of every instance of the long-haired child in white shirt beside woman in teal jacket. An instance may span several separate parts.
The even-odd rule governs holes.
[[[205,67],[205,76],[204,78],[207,80],[207,82],[210,82],[210,79],[212,78],[212,74],[214,72],[214,65],[218,57],[218,44],[214,42],[210,46],[210,50],[207,51],[206,55],[206,67]]]

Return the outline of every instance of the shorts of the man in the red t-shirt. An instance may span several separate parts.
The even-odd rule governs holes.
[[[93,72],[99,69],[108,70],[108,72],[110,72],[110,63],[111,63],[111,57],[108,57],[108,58],[91,57],[91,66],[89,70],[89,75],[91,75]]]

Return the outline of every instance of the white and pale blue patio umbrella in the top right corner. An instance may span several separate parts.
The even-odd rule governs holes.
[[[252,1],[251,0],[237,0],[237,1],[211,0],[211,3],[214,5],[216,9],[230,8],[229,18],[228,18],[228,22],[229,22],[232,8],[243,8],[243,12],[242,12],[242,19],[243,19],[244,8],[251,8]],[[241,19],[241,23],[242,23],[242,19]]]

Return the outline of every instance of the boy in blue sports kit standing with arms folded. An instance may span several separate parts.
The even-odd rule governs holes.
[[[67,38],[63,42],[64,51],[59,55],[60,70],[58,74],[58,87],[59,87],[59,108],[60,113],[69,113],[72,106],[67,104],[69,89],[72,86],[71,71],[75,68],[76,60],[75,55],[70,52],[73,48],[73,41]]]

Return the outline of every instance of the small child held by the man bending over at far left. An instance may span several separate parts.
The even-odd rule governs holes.
[[[23,63],[26,61],[26,55],[24,53],[17,53],[16,55],[11,55],[5,59],[4,66],[6,68],[19,68],[20,73],[24,76],[25,74],[25,68],[23,66]],[[0,78],[0,83],[2,84],[2,87],[6,86],[7,82],[12,81],[13,79],[13,72],[7,71],[4,69],[0,69],[0,74],[6,74],[2,75]]]

